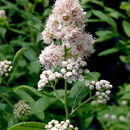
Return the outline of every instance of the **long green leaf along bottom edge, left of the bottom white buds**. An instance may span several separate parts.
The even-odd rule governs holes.
[[[39,122],[22,122],[8,128],[8,130],[45,130],[45,124]]]

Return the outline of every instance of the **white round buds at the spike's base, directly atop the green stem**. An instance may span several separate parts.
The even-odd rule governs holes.
[[[82,60],[82,58],[71,58],[67,61],[62,61],[61,73],[64,75],[64,79],[68,83],[76,82],[77,80],[83,81],[84,76],[82,75],[82,67],[86,66],[87,63]]]

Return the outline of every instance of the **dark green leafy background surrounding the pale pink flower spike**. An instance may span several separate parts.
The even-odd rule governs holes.
[[[53,91],[45,89],[40,93],[36,90],[41,73],[38,56],[41,49],[46,46],[41,40],[40,33],[44,29],[54,2],[53,0],[0,0],[0,10],[5,10],[7,16],[6,19],[0,18],[0,61],[11,60],[14,67],[9,78],[2,79],[0,85],[1,130],[24,121],[47,123],[51,119],[65,120],[63,105],[56,100]],[[94,45],[96,52],[87,61],[88,69],[97,71],[101,74],[101,78],[110,80],[114,88],[108,105],[100,105],[94,101],[86,104],[73,115],[72,123],[82,130],[117,128],[128,130],[130,119],[126,123],[116,120],[107,128],[103,114],[112,113],[118,116],[127,115],[130,111],[130,1],[81,0],[81,4],[87,11],[86,30],[96,38]],[[88,80],[97,80],[99,73],[92,73],[88,76]],[[61,81],[57,88],[62,88],[62,85]],[[78,91],[80,85],[74,86],[74,91]],[[73,89],[70,100],[76,95]],[[83,92],[78,95],[79,100],[74,105],[79,104],[86,97]],[[63,90],[58,90],[58,93],[64,96]],[[3,100],[3,96],[11,104]],[[18,120],[13,116],[13,106],[20,99],[31,106],[31,112],[24,120]],[[128,102],[125,107],[121,105],[122,100]],[[70,102],[70,106],[71,104],[73,102]],[[113,113],[113,110],[116,113]],[[20,124],[10,130],[22,128],[26,130],[25,126],[31,126],[29,129],[33,130],[34,124]],[[43,126],[39,124],[38,129],[43,129]]]

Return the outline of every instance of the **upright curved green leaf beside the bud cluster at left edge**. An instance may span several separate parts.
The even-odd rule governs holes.
[[[14,68],[17,66],[19,57],[24,53],[25,50],[26,50],[26,48],[22,48],[15,54],[14,59],[13,59],[13,67]]]

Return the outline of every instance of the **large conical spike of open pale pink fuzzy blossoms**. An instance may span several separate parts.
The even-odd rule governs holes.
[[[76,76],[74,74],[68,76],[70,83],[81,79],[77,78],[82,77],[83,73],[80,64],[84,62],[85,57],[94,52],[94,39],[92,35],[84,31],[85,17],[86,12],[82,9],[79,0],[57,0],[42,32],[42,39],[49,46],[40,54],[41,65],[53,73],[55,71],[62,73],[61,70],[66,69],[62,62],[68,63],[69,65],[66,64],[66,66],[72,66],[70,67],[71,72],[67,69],[65,73],[62,73],[62,77],[65,78],[68,72],[69,74],[74,72]],[[75,63],[70,64],[68,62],[70,59],[73,59],[72,61]],[[81,59],[81,63],[78,62],[78,59]],[[60,69],[57,70],[57,68]],[[40,85],[38,85],[39,90],[43,88],[42,81],[40,80]]]

